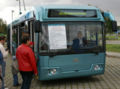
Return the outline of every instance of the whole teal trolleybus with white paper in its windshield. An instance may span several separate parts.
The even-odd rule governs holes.
[[[105,20],[111,13],[92,6],[37,6],[9,25],[15,55],[21,37],[34,42],[39,80],[92,76],[105,71]],[[10,29],[12,26],[12,29]]]

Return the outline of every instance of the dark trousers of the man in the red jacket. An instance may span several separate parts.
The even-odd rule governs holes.
[[[33,78],[33,72],[32,71],[30,72],[20,71],[20,74],[23,79],[21,89],[30,89],[31,81]]]

